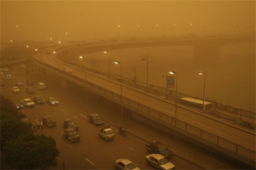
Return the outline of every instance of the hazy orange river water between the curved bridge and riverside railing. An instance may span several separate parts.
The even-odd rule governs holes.
[[[124,77],[135,77],[146,82],[148,58],[149,84],[165,87],[165,73],[178,73],[178,91],[192,96],[203,96],[203,77],[206,71],[206,98],[223,104],[255,112],[255,43],[219,47],[219,57],[195,58],[193,47],[138,47],[110,50],[107,54],[87,54],[97,60],[93,67],[119,74],[119,67],[111,61],[121,61]],[[110,64],[110,68],[109,65]],[[136,68],[136,69],[135,69]]]

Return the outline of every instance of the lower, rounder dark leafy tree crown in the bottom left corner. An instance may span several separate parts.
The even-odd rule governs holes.
[[[52,137],[26,134],[7,142],[4,161],[12,169],[48,169],[56,166],[59,150]]]

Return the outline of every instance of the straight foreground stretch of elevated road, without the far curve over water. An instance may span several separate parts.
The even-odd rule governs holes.
[[[72,82],[117,103],[122,101],[124,107],[136,112],[133,115],[135,118],[143,121],[142,117],[147,117],[240,161],[250,165],[255,163],[254,131],[202,114],[181,104],[178,104],[175,115],[173,101],[145,93],[126,84],[123,84],[121,89],[118,80],[111,80],[104,74],[97,74],[61,61],[55,55],[45,55],[44,51],[34,55],[32,61],[45,69],[46,74],[59,74],[63,88],[68,89],[69,83]],[[64,66],[72,67],[72,74],[63,72]],[[120,116],[119,113],[117,116]]]

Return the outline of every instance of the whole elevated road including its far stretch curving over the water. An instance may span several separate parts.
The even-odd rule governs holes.
[[[65,55],[77,55],[78,53],[92,53],[99,50],[146,47],[156,45],[203,45],[206,46],[209,40],[218,45],[252,41],[251,36],[237,37],[185,37],[184,39],[165,39],[162,41],[137,41],[137,42],[110,42],[94,45],[79,43],[59,48],[59,52]],[[209,44],[208,44],[209,45]],[[61,55],[60,55],[61,56]],[[62,58],[63,59],[63,58]],[[122,88],[118,77],[108,77],[100,72],[89,68],[83,68],[74,63],[66,62],[56,58],[55,55],[46,55],[41,48],[39,53],[33,54],[31,58],[37,66],[45,69],[46,74],[58,74],[62,87],[68,89],[69,83],[75,83],[83,88],[89,89],[105,98],[117,103],[124,104],[124,107],[135,111],[134,118],[141,121],[153,120],[159,125],[169,129],[176,129],[178,133],[189,136],[197,142],[208,145],[219,150],[239,161],[244,161],[255,166],[255,131],[249,131],[238,125],[220,120],[218,117],[203,114],[195,109],[178,104],[175,114],[175,103],[167,98],[156,96],[153,93],[146,93],[145,88],[133,86],[129,81],[123,80]],[[62,68],[72,67],[72,74],[66,74]],[[121,96],[122,90],[122,96]],[[120,116],[117,113],[117,116]],[[252,117],[253,118],[253,117]]]

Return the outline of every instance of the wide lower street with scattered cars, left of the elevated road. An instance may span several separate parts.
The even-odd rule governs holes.
[[[74,90],[71,94],[69,90],[59,88],[58,81],[53,82],[59,79],[58,76],[44,74],[34,69],[26,74],[25,69],[20,70],[17,66],[10,68],[10,74],[12,78],[1,76],[5,82],[4,87],[1,87],[1,95],[11,98],[17,109],[25,113],[28,118],[26,122],[31,123],[34,133],[47,134],[56,139],[61,152],[57,166],[59,169],[63,166],[66,169],[125,169],[126,166],[132,167],[129,169],[233,167],[229,163],[212,164],[209,161],[208,164],[183,158],[179,154],[176,155],[176,148],[165,145],[170,139],[161,139],[155,136],[156,134],[152,136],[151,133],[148,134],[151,137],[147,139],[148,135],[136,128],[133,129],[138,131],[136,134],[121,134],[118,125],[120,117],[118,109],[114,107],[115,104],[109,104],[110,107],[105,108],[102,105],[107,102],[105,99],[93,94],[85,98],[85,91],[78,90],[78,87],[71,88],[70,90]],[[15,93],[12,86],[17,85],[18,81],[20,91]],[[40,84],[43,89],[40,88]],[[33,88],[34,93],[29,93],[28,88]],[[78,93],[83,93],[82,97],[78,97]],[[124,131],[132,130],[129,124],[135,120],[129,115],[124,117]],[[35,120],[42,120],[42,128],[39,128]],[[148,125],[145,125],[145,128],[151,131]],[[153,128],[153,131],[159,133],[157,129]],[[212,159],[211,156],[216,155],[207,155],[208,159]]]

